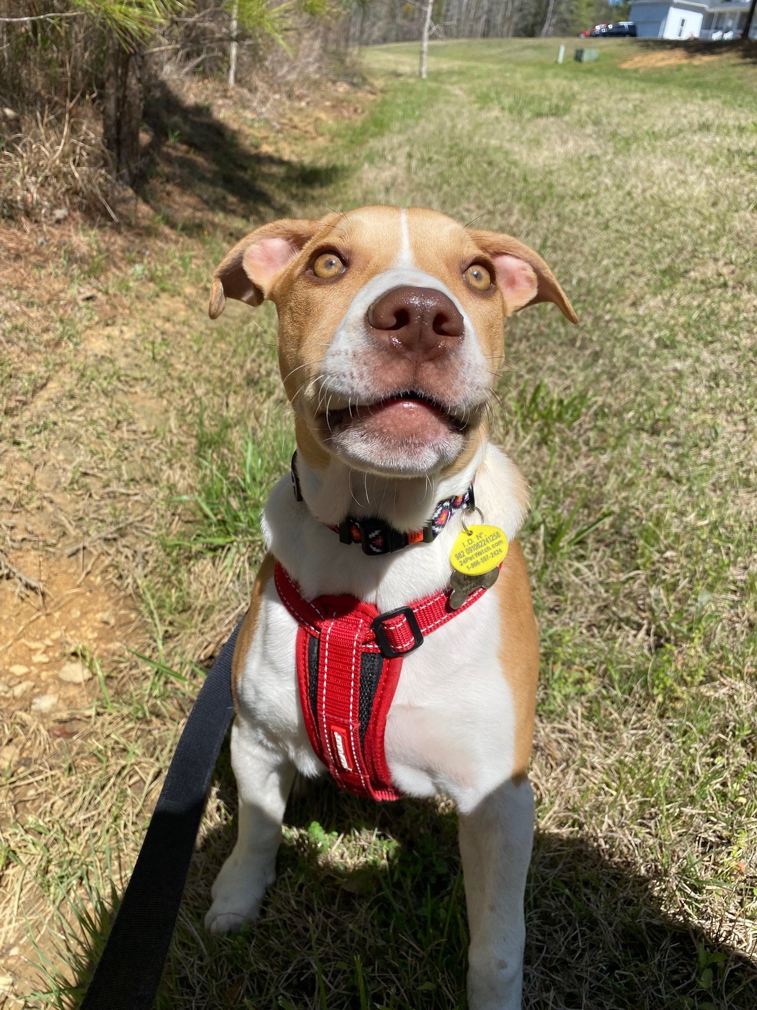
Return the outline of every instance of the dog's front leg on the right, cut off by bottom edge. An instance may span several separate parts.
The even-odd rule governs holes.
[[[533,834],[534,797],[528,780],[506,782],[470,813],[460,814],[470,1010],[520,1010],[523,896]]]

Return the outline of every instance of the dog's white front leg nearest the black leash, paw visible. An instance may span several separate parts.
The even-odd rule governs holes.
[[[276,853],[295,767],[236,718],[231,730],[231,765],[239,794],[236,844],[213,884],[205,916],[212,933],[239,929],[257,918],[265,888],[276,879]]]

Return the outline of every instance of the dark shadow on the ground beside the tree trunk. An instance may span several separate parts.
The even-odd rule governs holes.
[[[250,146],[210,106],[184,102],[164,81],[150,89],[143,121],[151,137],[135,188],[170,226],[190,234],[207,229],[208,212],[254,214],[258,221],[286,215],[293,202],[312,199],[347,171]],[[168,199],[165,184],[175,191]]]

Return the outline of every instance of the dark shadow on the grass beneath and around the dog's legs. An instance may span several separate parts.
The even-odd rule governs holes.
[[[233,810],[227,749],[216,784]],[[233,936],[210,936],[202,920],[235,823],[208,834],[156,1010],[464,1010],[456,815],[428,802],[371,804],[322,781],[290,801],[285,823],[303,831],[283,842],[259,921]],[[352,866],[329,858],[340,836],[362,845]],[[529,1010],[754,1010],[757,964],[665,915],[650,879],[585,839],[537,834],[526,919]],[[104,907],[93,918],[88,948],[71,964],[74,999],[57,1005],[79,1005],[111,920]]]

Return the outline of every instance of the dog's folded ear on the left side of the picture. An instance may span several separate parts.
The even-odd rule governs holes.
[[[271,296],[277,279],[307,245],[320,221],[284,219],[250,231],[227,252],[213,274],[208,313],[217,319],[227,298],[259,305]]]

